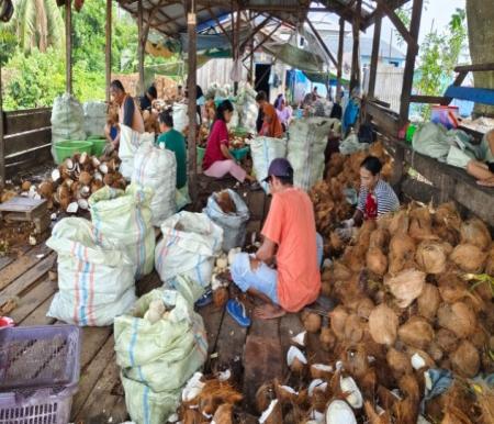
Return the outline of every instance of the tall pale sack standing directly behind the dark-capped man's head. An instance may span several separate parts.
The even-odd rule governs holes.
[[[293,167],[293,183],[307,191],[323,179],[324,150],[335,119],[306,118],[290,124],[288,159]]]

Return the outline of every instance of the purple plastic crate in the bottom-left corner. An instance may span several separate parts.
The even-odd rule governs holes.
[[[0,331],[0,424],[68,423],[80,368],[75,325]]]

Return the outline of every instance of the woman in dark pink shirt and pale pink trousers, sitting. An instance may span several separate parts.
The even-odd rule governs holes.
[[[226,124],[233,115],[233,104],[229,100],[223,101],[216,110],[216,120],[211,127],[207,137],[206,150],[202,161],[204,175],[213,178],[222,178],[231,174],[240,182],[255,181],[255,178],[236,163],[228,149],[228,129]]]

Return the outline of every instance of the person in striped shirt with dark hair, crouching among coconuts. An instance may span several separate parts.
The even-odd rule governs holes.
[[[400,201],[391,186],[381,179],[382,164],[375,156],[368,156],[360,165],[360,193],[353,217],[344,221],[344,238],[351,236],[351,228],[363,221],[375,220],[388,212],[400,209]],[[348,231],[347,231],[348,230]]]

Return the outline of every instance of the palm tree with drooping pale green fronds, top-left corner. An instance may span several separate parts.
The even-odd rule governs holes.
[[[65,25],[55,0],[14,0],[14,14],[3,31],[14,34],[25,53],[61,48]]]

